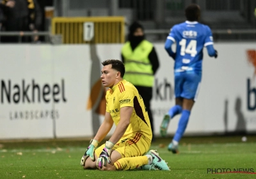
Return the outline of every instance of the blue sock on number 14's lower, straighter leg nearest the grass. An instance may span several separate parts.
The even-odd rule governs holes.
[[[173,137],[173,140],[175,140],[177,142],[180,141],[180,139],[183,136],[183,134],[186,130],[186,127],[188,125],[189,116],[190,116],[190,111],[185,110],[185,109],[182,110],[179,125],[178,125],[178,129],[175,133],[175,136]]]

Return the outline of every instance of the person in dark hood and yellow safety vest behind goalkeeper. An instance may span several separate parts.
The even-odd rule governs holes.
[[[154,120],[150,109],[154,75],[159,68],[159,60],[154,45],[145,40],[144,28],[138,22],[129,27],[128,41],[122,47],[122,61],[125,65],[124,79],[131,82],[143,98],[154,137]]]

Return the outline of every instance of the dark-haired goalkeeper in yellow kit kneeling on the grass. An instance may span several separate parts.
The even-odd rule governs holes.
[[[148,152],[152,130],[147,109],[138,90],[123,79],[124,64],[117,59],[108,59],[102,65],[102,84],[109,87],[106,114],[81,159],[81,166],[84,169],[111,171],[138,168],[170,170],[155,150]],[[97,148],[114,123],[113,135],[106,144]]]

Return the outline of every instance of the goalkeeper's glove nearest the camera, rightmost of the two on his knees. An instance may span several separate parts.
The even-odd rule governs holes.
[[[102,168],[102,166],[106,166],[107,162],[110,164],[110,154],[112,152],[112,148],[115,144],[111,143],[111,141],[106,141],[105,147],[100,153],[99,158],[97,159],[96,166]]]

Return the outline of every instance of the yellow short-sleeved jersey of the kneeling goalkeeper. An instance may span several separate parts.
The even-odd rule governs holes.
[[[152,130],[147,109],[145,109],[143,99],[138,93],[138,90],[131,82],[123,79],[113,86],[113,88],[109,88],[106,94],[106,101],[106,111],[111,114],[116,126],[120,121],[121,107],[133,107],[130,124],[123,137],[140,132],[151,141]]]

